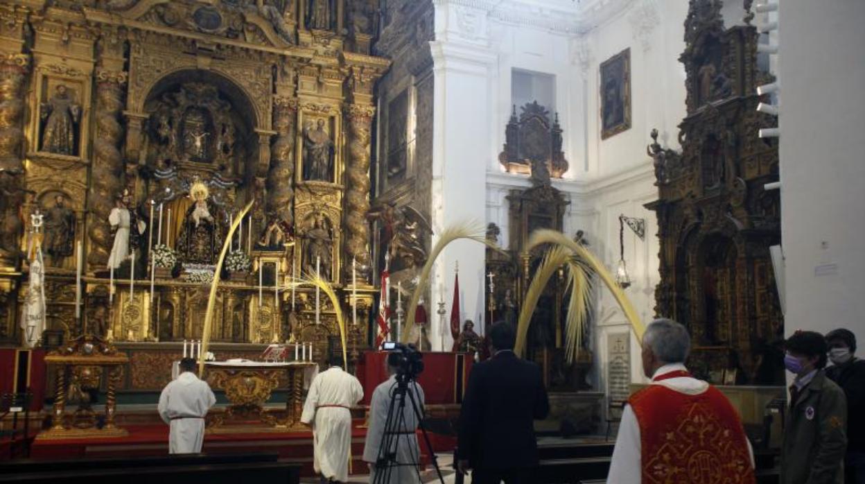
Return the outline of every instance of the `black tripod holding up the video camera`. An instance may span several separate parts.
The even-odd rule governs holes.
[[[412,391],[408,391],[409,384],[412,384],[414,387]],[[432,452],[430,438],[426,434],[424,416],[420,412],[417,400],[415,400],[414,397],[416,393],[417,383],[414,382],[413,377],[403,374],[396,375],[396,385],[391,388],[390,404],[388,405],[388,418],[384,423],[384,433],[381,436],[378,457],[375,461],[374,484],[389,483],[391,475],[394,473],[394,469],[399,471],[399,468],[407,467],[414,468],[414,472],[418,475],[418,481],[421,482],[420,447],[415,448],[413,445],[413,439],[411,437],[413,437],[414,429],[406,428],[406,396],[408,396],[408,400],[412,405],[412,410],[414,412],[414,417],[418,421],[420,433],[424,436],[426,448],[430,449],[430,459],[432,460],[432,466],[439,475],[439,482],[445,484],[445,478],[442,477],[441,469],[439,468],[439,461],[436,460],[436,455]],[[398,449],[400,448],[400,437],[406,439],[405,442],[407,443],[407,448],[411,449],[410,459],[407,462],[399,461]],[[415,449],[419,450],[417,455],[414,453]]]

